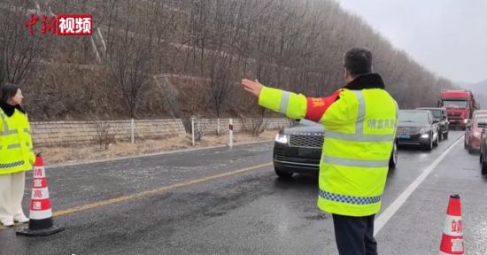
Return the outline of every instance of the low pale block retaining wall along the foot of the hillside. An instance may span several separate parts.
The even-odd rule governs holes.
[[[251,128],[259,119],[234,119],[234,132]],[[264,119],[266,129],[277,129],[290,126],[290,120]],[[197,119],[196,128],[203,128],[204,134],[216,134],[216,119]],[[130,141],[130,120],[105,121],[49,121],[31,122],[35,146],[57,146],[71,144],[99,143],[100,139],[113,141]],[[134,135],[136,139],[158,139],[174,135],[186,135],[182,120],[135,120]],[[228,119],[220,119],[220,133],[228,133]]]

